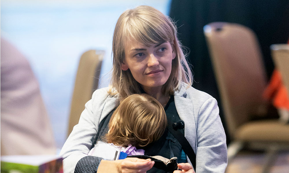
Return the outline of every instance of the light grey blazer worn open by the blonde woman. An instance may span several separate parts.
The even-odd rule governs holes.
[[[179,117],[185,122],[185,137],[196,153],[196,172],[225,172],[226,136],[216,99],[184,83],[174,93],[174,99]],[[60,152],[65,173],[73,173],[77,162],[87,156],[99,123],[118,103],[118,94],[109,95],[108,88],[92,94]]]

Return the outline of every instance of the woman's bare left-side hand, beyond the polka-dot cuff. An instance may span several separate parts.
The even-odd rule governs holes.
[[[155,164],[151,159],[139,159],[128,157],[118,161],[118,172],[120,173],[146,173]]]

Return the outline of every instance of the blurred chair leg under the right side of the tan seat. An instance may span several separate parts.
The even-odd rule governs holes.
[[[274,165],[277,158],[278,148],[276,146],[270,146],[266,151],[264,166],[262,167],[262,173],[269,173],[270,168]]]

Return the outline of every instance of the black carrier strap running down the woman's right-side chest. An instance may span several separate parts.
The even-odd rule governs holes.
[[[184,136],[183,133],[181,133],[179,130],[175,130],[173,128],[173,124],[170,120],[168,120],[168,130],[173,134],[173,136],[175,136],[175,138],[179,141],[179,143],[181,144],[184,152],[187,154],[187,156],[189,157],[194,170],[196,171],[196,154],[194,153],[194,150],[192,148],[192,146],[190,145],[190,143],[188,142],[188,140],[186,139],[186,137]]]

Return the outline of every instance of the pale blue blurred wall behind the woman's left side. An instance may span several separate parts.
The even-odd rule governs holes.
[[[150,5],[168,14],[170,1],[1,1],[1,38],[29,60],[58,148],[62,148],[67,137],[81,54],[90,49],[105,50],[99,87],[108,86],[116,21],[123,11],[138,5]]]

